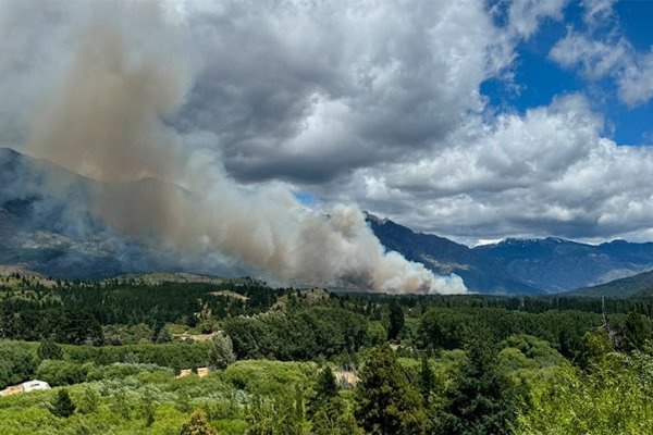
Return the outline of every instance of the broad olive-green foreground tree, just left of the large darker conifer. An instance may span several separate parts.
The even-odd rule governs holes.
[[[360,371],[355,415],[367,433],[424,434],[428,419],[419,393],[409,384],[387,344],[373,348]]]

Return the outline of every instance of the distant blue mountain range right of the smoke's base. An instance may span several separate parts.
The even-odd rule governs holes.
[[[614,240],[595,246],[554,237],[508,238],[469,248],[371,214],[367,219],[387,249],[436,273],[456,273],[478,293],[560,293],[653,269],[653,243]]]

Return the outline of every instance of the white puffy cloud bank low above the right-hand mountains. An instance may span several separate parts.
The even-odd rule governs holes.
[[[470,122],[445,152],[361,171],[354,184],[370,209],[469,243],[551,234],[643,239],[653,151],[617,146],[602,129],[586,98],[571,95],[525,115]]]

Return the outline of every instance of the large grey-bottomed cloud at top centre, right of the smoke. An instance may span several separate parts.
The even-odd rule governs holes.
[[[197,8],[178,124],[214,134],[241,181],[323,183],[431,150],[513,60],[480,1]]]

